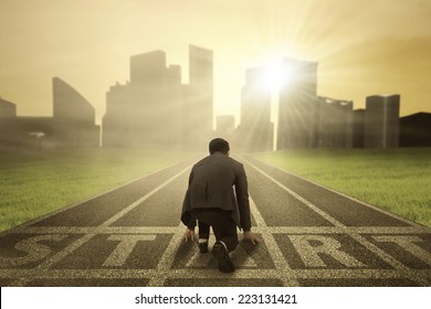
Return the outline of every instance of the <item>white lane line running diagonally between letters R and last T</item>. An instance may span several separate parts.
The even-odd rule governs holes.
[[[398,259],[396,259],[395,257],[392,257],[391,255],[387,254],[385,251],[380,249],[378,246],[376,246],[375,244],[370,243],[369,241],[367,241],[365,237],[362,237],[360,234],[358,233],[355,233],[353,232],[351,230],[347,228],[343,223],[338,222],[336,219],[334,219],[333,216],[328,215],[327,213],[325,213],[324,211],[322,211],[319,207],[317,207],[316,205],[314,205],[313,203],[311,203],[309,201],[307,201],[306,199],[304,199],[303,196],[301,196],[299,194],[297,194],[296,192],[292,191],[291,189],[288,189],[287,187],[285,187],[283,183],[281,183],[280,181],[277,181],[276,179],[274,179],[273,177],[271,177],[270,174],[267,174],[266,172],[264,172],[263,170],[261,170],[260,168],[257,168],[256,166],[254,166],[253,163],[251,163],[250,161],[243,159],[243,161],[245,163],[248,163],[249,166],[251,166],[253,169],[255,169],[256,171],[259,171],[261,174],[263,174],[264,177],[266,177],[269,180],[271,180],[272,182],[274,182],[276,185],[278,185],[280,188],[282,188],[284,191],[286,191],[288,194],[291,194],[292,196],[296,198],[298,201],[301,201],[304,205],[308,206],[311,210],[313,210],[314,212],[316,212],[317,214],[319,214],[320,216],[323,216],[324,219],[326,219],[327,221],[329,221],[333,225],[335,225],[336,227],[338,228],[341,228],[345,231],[346,234],[348,234],[351,238],[354,238],[355,241],[357,241],[359,244],[364,245],[367,249],[369,249],[370,252],[372,252],[374,254],[376,254],[378,257],[380,257],[382,260],[385,260],[386,263],[388,263],[389,265],[391,265],[393,268],[396,269],[399,269],[400,271],[403,271],[406,277],[407,278],[411,278],[413,281],[418,283],[419,285],[421,286],[428,286],[429,283],[427,279],[424,278],[420,278],[420,277],[412,277],[411,275],[411,269],[409,267],[407,267],[406,265],[403,265],[402,263],[400,263]]]

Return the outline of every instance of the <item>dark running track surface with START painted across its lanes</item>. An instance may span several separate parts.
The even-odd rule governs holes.
[[[1,233],[0,286],[431,286],[431,228],[239,160],[262,243],[233,274],[182,241],[190,160]]]

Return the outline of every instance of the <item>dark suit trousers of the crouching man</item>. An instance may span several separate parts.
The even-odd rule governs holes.
[[[229,252],[234,251],[238,246],[238,234],[231,213],[222,210],[193,210],[192,215],[198,220],[199,238],[208,239],[212,226],[216,239],[223,242]]]

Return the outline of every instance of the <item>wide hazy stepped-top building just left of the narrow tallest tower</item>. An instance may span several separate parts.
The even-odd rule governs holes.
[[[167,66],[165,52],[132,56],[130,82],[106,94],[103,145],[178,149],[181,93],[181,68]]]

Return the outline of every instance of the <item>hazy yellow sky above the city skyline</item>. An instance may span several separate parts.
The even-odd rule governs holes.
[[[182,67],[188,45],[214,53],[214,113],[238,117],[248,67],[318,62],[318,95],[365,105],[401,94],[401,116],[431,113],[430,0],[0,0],[0,96],[20,116],[52,115],[59,76],[105,113],[129,56]],[[236,119],[238,121],[238,119]]]

